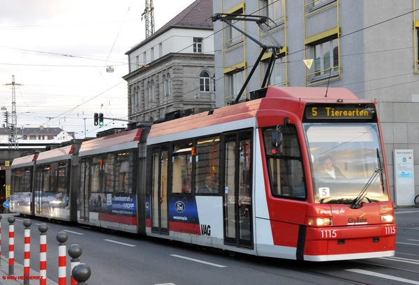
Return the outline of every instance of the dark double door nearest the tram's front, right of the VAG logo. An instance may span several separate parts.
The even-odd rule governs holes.
[[[228,245],[253,247],[251,132],[225,139],[224,240]]]

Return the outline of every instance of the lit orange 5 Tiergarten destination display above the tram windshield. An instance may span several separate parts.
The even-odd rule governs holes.
[[[345,118],[374,118],[376,109],[372,104],[333,104],[306,106],[306,118],[309,119],[345,119]]]

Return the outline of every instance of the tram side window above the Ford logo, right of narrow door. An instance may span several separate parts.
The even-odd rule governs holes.
[[[173,146],[172,153],[172,193],[191,193],[192,142]]]

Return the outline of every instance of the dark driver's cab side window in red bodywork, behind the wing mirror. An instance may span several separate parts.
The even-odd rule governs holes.
[[[281,126],[282,150],[276,148],[272,138],[277,137],[277,128],[263,130],[263,142],[267,157],[272,194],[279,197],[305,199],[304,169],[297,130],[294,125]]]

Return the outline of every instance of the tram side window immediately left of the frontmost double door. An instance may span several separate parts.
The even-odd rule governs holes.
[[[196,141],[195,191],[199,194],[219,193],[220,138]]]

